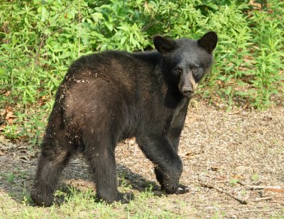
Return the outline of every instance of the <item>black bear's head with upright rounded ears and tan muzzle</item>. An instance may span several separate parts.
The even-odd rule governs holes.
[[[153,38],[156,50],[163,55],[165,74],[169,74],[170,81],[183,96],[192,96],[197,84],[209,72],[217,40],[217,34],[212,31],[199,40],[171,40],[159,35]]]

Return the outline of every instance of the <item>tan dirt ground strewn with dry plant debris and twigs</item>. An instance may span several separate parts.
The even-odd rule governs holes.
[[[193,104],[195,103],[195,104]],[[176,213],[185,218],[267,218],[284,215],[284,108],[268,111],[234,110],[193,102],[180,139],[179,155],[184,164],[181,183],[190,187],[185,195],[170,195]],[[15,145],[0,136],[0,193],[15,199],[28,193],[33,181],[38,151]],[[152,184],[159,195],[153,164],[135,140],[116,149],[120,178],[133,190]],[[91,187],[87,165],[80,156],[72,159],[62,181]],[[180,208],[180,203],[189,203]],[[187,215],[194,209],[194,215]]]

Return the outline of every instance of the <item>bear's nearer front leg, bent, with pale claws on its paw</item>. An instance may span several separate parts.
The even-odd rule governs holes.
[[[167,137],[147,135],[136,137],[138,145],[148,159],[155,164],[155,174],[167,193],[187,193],[186,186],[179,186],[182,174],[182,160]]]

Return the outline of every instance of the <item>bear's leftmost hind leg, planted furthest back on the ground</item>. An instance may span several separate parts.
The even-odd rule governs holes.
[[[63,140],[60,142],[65,143]],[[72,155],[70,147],[62,147],[59,145],[60,142],[46,137],[43,140],[35,181],[31,190],[31,198],[37,206],[52,205],[53,193],[58,180]]]

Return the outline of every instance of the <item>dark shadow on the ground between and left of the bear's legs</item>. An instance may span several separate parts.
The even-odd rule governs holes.
[[[35,160],[32,162],[21,162],[19,159],[11,162],[9,157],[2,158],[3,160],[0,159],[1,163],[8,163],[6,164],[6,172],[8,174],[6,174],[7,176],[5,175],[6,177],[0,177],[0,189],[6,191],[13,201],[22,204],[24,197],[29,197],[35,174],[35,164],[37,164],[37,162]],[[15,169],[15,167],[17,168]],[[9,173],[13,173],[15,176],[13,182],[8,181]],[[126,190],[127,192],[129,192],[129,190],[138,192],[151,191],[154,196],[163,195],[163,191],[160,190],[160,185],[156,181],[145,179],[140,174],[132,172],[131,169],[125,167],[123,164],[117,164],[117,173],[119,178],[119,189]],[[66,183],[68,180],[72,180],[75,184]],[[85,186],[84,189],[81,189],[80,186],[76,186],[76,183],[80,183],[80,181],[86,182],[89,186]],[[94,188],[95,186],[93,185],[92,174],[89,172],[84,160],[79,158],[73,159],[63,171],[58,190],[66,193],[67,196],[72,196],[72,191],[82,193],[90,187]],[[72,189],[70,189],[70,187]],[[96,191],[93,190],[92,192],[95,193]],[[28,202],[33,206],[33,202],[29,198]]]

